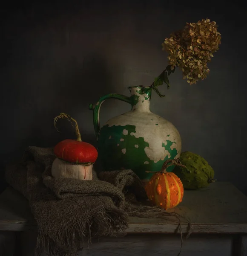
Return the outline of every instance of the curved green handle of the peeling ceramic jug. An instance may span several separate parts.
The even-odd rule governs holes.
[[[98,138],[99,131],[101,129],[101,126],[100,126],[100,108],[101,108],[102,103],[106,99],[119,99],[121,101],[124,101],[124,102],[127,102],[127,103],[131,104],[131,106],[132,106],[131,96],[127,97],[127,96],[117,94],[117,93],[109,93],[109,94],[106,94],[106,95],[102,96],[95,105],[93,105],[92,103],[89,104],[89,109],[93,110],[93,123],[94,123],[94,129],[95,129],[95,134],[96,134],[97,138]]]

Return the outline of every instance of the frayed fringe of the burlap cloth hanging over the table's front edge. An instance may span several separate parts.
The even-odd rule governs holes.
[[[92,237],[118,236],[127,227],[128,216],[121,210],[109,209],[109,213],[98,212],[85,223],[76,224],[62,232],[39,230],[35,256],[44,252],[48,256],[77,256],[78,250],[82,250],[85,243],[91,242]]]

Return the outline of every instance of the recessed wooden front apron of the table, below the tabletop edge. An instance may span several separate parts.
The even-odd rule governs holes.
[[[33,256],[36,237],[34,232],[23,233],[23,255]],[[102,238],[99,241],[93,239],[92,244],[85,244],[78,256],[177,256],[180,246],[178,235],[128,234],[118,238]],[[192,235],[184,239],[181,256],[231,256],[231,246],[230,236]]]

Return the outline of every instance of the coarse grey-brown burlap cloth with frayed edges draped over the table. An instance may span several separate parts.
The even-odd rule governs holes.
[[[141,180],[131,170],[93,173],[93,180],[55,179],[52,148],[29,147],[23,162],[6,167],[6,181],[21,192],[37,221],[36,255],[72,256],[91,237],[116,236],[128,227],[128,216],[179,216],[145,206]],[[150,215],[151,214],[151,215]]]

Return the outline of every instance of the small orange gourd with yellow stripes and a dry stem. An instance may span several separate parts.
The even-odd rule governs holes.
[[[184,186],[179,177],[166,171],[167,167],[171,165],[183,166],[177,159],[167,160],[164,162],[161,171],[155,172],[145,186],[146,195],[151,203],[164,209],[177,206],[184,196]]]

